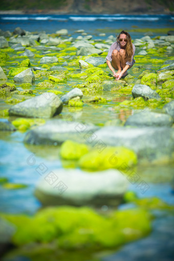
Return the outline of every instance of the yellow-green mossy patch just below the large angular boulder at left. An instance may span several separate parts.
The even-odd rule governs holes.
[[[27,118],[17,118],[12,121],[12,124],[20,131],[26,132],[29,128],[33,126],[42,125],[45,123],[44,119],[27,119]]]

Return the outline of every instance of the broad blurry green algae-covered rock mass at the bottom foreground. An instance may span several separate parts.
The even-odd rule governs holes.
[[[151,230],[150,215],[138,208],[101,215],[88,207],[49,207],[34,216],[2,214],[2,217],[16,226],[12,237],[16,246],[56,240],[60,249],[96,250],[118,247]]]

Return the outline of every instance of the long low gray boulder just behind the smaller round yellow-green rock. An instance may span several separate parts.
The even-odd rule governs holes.
[[[89,136],[98,129],[97,126],[75,121],[50,120],[42,126],[30,130],[25,137],[28,144],[60,145],[66,140],[86,142]]]

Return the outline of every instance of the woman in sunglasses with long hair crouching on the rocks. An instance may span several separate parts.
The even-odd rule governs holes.
[[[127,32],[121,31],[117,41],[112,44],[106,56],[107,66],[113,72],[116,80],[125,76],[127,70],[133,66],[135,63],[134,54],[135,45],[132,43],[131,36]],[[114,69],[117,70],[117,73]]]

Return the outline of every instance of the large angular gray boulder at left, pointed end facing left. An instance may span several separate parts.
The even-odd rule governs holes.
[[[62,111],[62,102],[54,93],[43,93],[12,106],[10,116],[51,118]]]

